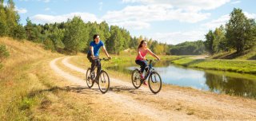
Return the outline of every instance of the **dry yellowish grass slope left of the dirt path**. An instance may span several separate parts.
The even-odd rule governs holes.
[[[1,120],[93,119],[89,100],[78,99],[49,67],[51,60],[62,55],[30,41],[3,37],[0,43],[10,52],[0,70]]]

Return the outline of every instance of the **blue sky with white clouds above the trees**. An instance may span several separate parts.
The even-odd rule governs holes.
[[[130,31],[131,36],[176,45],[205,40],[210,29],[225,25],[234,8],[256,18],[255,0],[14,0],[22,25],[67,21],[106,21]]]

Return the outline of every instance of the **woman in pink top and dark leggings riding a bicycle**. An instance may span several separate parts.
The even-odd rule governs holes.
[[[150,55],[152,57],[155,57],[158,60],[160,60],[160,58],[157,55],[155,55],[154,53],[152,53],[151,50],[148,49],[146,46],[147,46],[146,41],[142,40],[141,43],[138,45],[138,49],[137,49],[138,55],[137,55],[136,61],[135,61],[136,64],[141,66],[140,76],[141,76],[142,79],[144,79],[144,76],[142,74],[143,74],[143,72],[146,68],[146,65],[147,65],[146,64],[146,57],[145,57],[146,53],[150,53]],[[143,84],[147,85],[146,81],[144,81]]]

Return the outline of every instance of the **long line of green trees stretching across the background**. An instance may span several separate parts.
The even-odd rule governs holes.
[[[142,40],[148,41],[148,47],[157,54],[198,55],[204,53],[219,53],[237,50],[242,53],[254,47],[256,24],[254,19],[246,18],[240,9],[234,9],[230,21],[214,31],[206,33],[206,41],[186,41],[178,45],[161,43],[146,37],[132,37],[127,29],[117,25],[108,25],[106,21],[84,22],[80,17],[74,17],[60,23],[34,24],[30,18],[26,25],[19,24],[20,17],[15,11],[13,0],[7,5],[0,3],[0,37],[34,41],[45,45],[45,49],[60,53],[86,53],[93,35],[98,33],[106,43],[106,49],[113,54],[120,54],[125,49],[136,50]]]

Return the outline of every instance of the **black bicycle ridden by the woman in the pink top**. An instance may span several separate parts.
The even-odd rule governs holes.
[[[150,87],[150,91],[153,92],[154,94],[157,94],[160,92],[162,88],[162,79],[161,76],[156,72],[152,66],[152,62],[154,60],[146,60],[149,61],[150,63],[146,66],[145,70],[145,76],[144,79],[142,80],[140,77],[140,69],[135,68],[134,71],[132,72],[131,80],[134,85],[134,88],[140,88],[144,81],[148,78],[148,84]],[[155,60],[158,61],[158,60]]]

